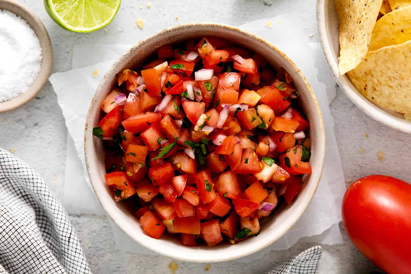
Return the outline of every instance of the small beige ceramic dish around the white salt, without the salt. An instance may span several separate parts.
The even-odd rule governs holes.
[[[40,18],[34,12],[14,0],[0,0],[0,9],[13,12],[23,18],[28,25],[30,25],[39,38],[43,56],[39,74],[33,81],[31,87],[18,97],[0,103],[0,112],[4,112],[18,108],[27,103],[42,89],[44,84],[47,82],[48,76],[50,75],[51,64],[53,62],[53,50],[51,48],[51,41],[50,37],[48,37],[47,30]]]

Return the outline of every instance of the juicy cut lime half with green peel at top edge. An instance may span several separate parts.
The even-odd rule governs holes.
[[[65,30],[92,32],[108,25],[121,0],[44,0],[48,15]]]

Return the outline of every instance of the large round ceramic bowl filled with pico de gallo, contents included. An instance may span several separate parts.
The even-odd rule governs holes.
[[[97,199],[134,241],[218,262],[296,223],[319,184],[325,134],[314,92],[284,53],[198,23],[157,32],[113,64],[84,149]]]

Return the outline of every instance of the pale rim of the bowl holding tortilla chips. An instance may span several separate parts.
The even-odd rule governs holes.
[[[330,69],[335,81],[337,82],[339,87],[341,87],[346,96],[369,117],[398,131],[411,133],[410,120],[406,120],[404,117],[398,117],[397,115],[390,113],[389,110],[373,104],[357,89],[354,90],[352,87],[350,87],[347,83],[347,80],[339,75],[338,63],[335,62],[333,58],[330,39],[327,33],[325,19],[326,1],[330,0],[317,0],[316,3],[317,32],[324,58],[326,59],[328,68]]]

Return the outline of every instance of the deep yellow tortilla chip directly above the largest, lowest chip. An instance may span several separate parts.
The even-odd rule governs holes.
[[[372,31],[369,51],[375,51],[383,46],[402,44],[411,40],[411,6],[396,9],[375,23]]]

